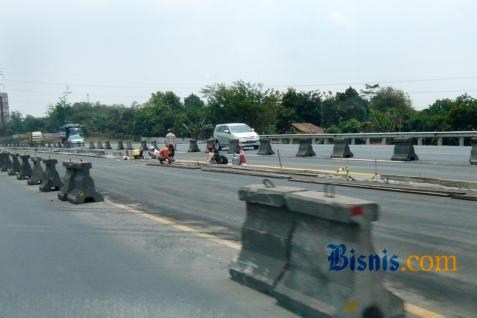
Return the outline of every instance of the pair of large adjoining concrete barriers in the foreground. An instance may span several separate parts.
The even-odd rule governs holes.
[[[264,185],[242,187],[242,249],[231,278],[274,296],[304,317],[404,317],[403,301],[379,271],[332,271],[329,244],[376,255],[371,223],[378,205],[332,192]],[[331,256],[330,256],[331,257]]]

